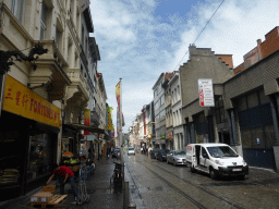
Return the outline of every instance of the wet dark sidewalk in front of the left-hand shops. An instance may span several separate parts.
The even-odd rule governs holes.
[[[123,192],[114,190],[113,186],[110,185],[110,177],[114,169],[114,159],[111,157],[109,159],[104,158],[97,160],[95,174],[86,182],[87,193],[90,196],[90,201],[88,204],[83,204],[82,206],[75,206],[71,202],[74,201],[74,195],[72,193],[70,183],[65,184],[65,192],[68,193],[68,199],[59,208],[98,208],[98,209],[122,209],[123,208]],[[54,184],[54,182],[52,183]],[[78,189],[78,184],[75,184]],[[0,202],[0,208],[2,209],[14,209],[14,208],[32,208],[29,200],[31,196],[39,192],[41,187],[32,190],[23,197],[12,199],[7,202]],[[57,187],[54,194],[59,194],[59,187]]]

